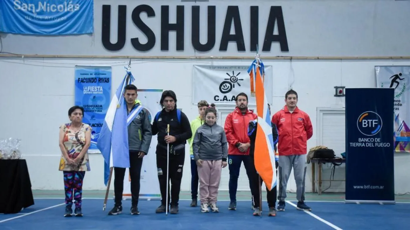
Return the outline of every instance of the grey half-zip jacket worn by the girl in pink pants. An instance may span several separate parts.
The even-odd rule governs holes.
[[[194,160],[198,161],[226,161],[228,158],[228,141],[225,130],[216,123],[212,126],[204,123],[195,132],[192,142]]]

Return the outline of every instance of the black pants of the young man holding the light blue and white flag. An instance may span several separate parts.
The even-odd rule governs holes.
[[[130,177],[131,177],[131,205],[137,206],[139,199],[139,188],[141,178],[142,159],[138,157],[138,152],[130,151]],[[121,205],[124,190],[125,168],[114,167],[114,202]],[[128,176],[127,176],[128,180]]]

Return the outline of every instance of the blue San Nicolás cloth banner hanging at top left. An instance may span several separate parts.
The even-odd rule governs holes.
[[[0,0],[0,32],[87,34],[93,24],[93,0]]]

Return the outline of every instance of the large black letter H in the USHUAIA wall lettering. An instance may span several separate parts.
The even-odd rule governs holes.
[[[177,51],[184,50],[184,6],[177,6],[177,22],[169,23],[169,6],[161,6],[161,50],[169,50],[169,31],[176,31]]]

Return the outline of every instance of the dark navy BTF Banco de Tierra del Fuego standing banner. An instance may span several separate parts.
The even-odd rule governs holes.
[[[346,89],[346,203],[394,203],[394,89]]]

